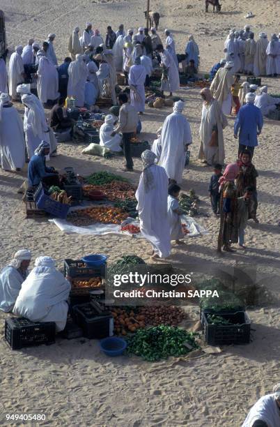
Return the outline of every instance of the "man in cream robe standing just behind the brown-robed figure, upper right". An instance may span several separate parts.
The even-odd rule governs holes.
[[[224,114],[231,114],[233,96],[231,87],[233,85],[233,62],[227,62],[224,68],[219,68],[210,86],[212,96],[218,101]]]

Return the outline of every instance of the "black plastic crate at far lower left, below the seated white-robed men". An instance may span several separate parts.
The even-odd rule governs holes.
[[[9,317],[5,320],[5,339],[12,350],[31,345],[55,343],[54,322],[31,322],[25,317]]]

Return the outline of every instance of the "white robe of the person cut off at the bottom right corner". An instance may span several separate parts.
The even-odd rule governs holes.
[[[280,426],[280,412],[274,398],[274,394],[267,394],[255,403],[242,427],[252,427],[254,421],[261,420],[267,424],[267,427]]]

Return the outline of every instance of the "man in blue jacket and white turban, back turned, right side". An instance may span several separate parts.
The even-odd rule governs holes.
[[[241,151],[247,150],[252,158],[254,148],[258,145],[258,135],[263,128],[263,114],[254,105],[254,93],[247,93],[245,100],[246,104],[240,108],[234,123],[234,137],[238,139],[239,132],[238,156]]]

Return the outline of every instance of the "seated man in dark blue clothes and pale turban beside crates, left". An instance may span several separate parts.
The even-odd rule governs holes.
[[[59,172],[56,172],[54,167],[46,166],[45,157],[49,155],[49,151],[50,144],[45,141],[42,141],[35,150],[28,165],[29,186],[38,186],[40,181],[47,186],[59,186]]]

